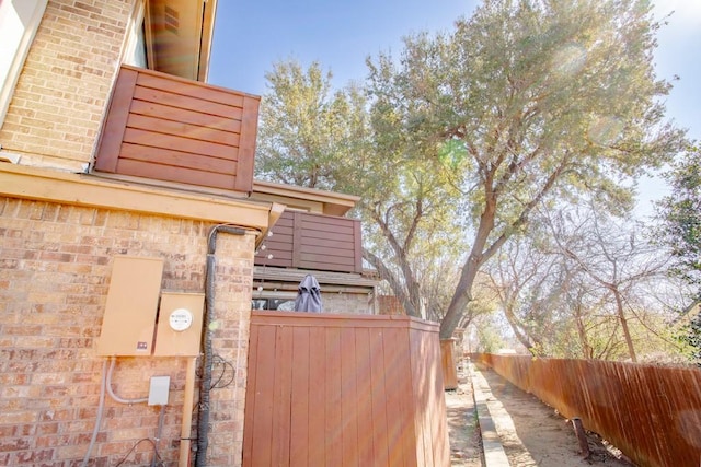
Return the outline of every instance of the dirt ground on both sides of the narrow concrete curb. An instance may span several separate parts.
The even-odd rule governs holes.
[[[472,377],[467,365],[461,367],[459,387],[446,392],[452,466],[485,465],[471,382],[480,385],[478,390],[487,396],[490,415],[512,466],[634,466],[590,432],[587,441],[591,455],[584,459],[570,420],[492,370],[474,366],[474,371],[478,373]]]

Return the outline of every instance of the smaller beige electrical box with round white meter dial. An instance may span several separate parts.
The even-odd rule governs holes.
[[[203,293],[163,292],[153,354],[197,357],[204,306]]]

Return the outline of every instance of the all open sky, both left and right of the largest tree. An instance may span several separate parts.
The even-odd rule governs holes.
[[[435,33],[469,16],[476,0],[218,0],[209,71],[212,84],[265,93],[265,72],[274,62],[294,58],[304,66],[317,60],[343,86],[367,74],[366,57],[399,54],[402,36]],[[671,79],[668,116],[701,140],[701,0],[656,0],[655,15],[675,11],[658,33],[657,74]],[[651,184],[645,198],[665,187]]]

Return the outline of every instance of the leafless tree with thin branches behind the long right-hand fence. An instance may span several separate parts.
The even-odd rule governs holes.
[[[668,314],[652,300],[669,295],[658,290],[668,258],[641,238],[640,225],[593,207],[559,207],[538,219],[484,268],[531,353],[636,361],[653,347],[678,347],[667,337]]]

